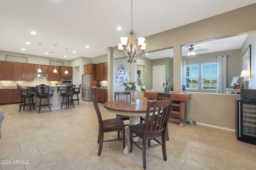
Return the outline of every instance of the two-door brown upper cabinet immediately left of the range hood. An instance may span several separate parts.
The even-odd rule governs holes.
[[[34,64],[13,63],[13,80],[34,80]]]

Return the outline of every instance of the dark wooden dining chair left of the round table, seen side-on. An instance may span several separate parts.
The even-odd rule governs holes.
[[[102,121],[100,109],[98,106],[98,99],[96,95],[92,97],[94,109],[96,111],[97,117],[98,117],[98,124],[99,124],[99,133],[98,133],[98,144],[99,150],[98,150],[98,156],[101,155],[103,142],[111,142],[116,140],[123,140],[123,148],[125,147],[125,131],[124,128],[126,125],[124,125],[124,122],[120,118],[114,118],[114,119],[107,119]],[[122,139],[110,139],[110,140],[104,140],[104,133],[105,132],[113,132],[113,131],[123,131],[123,138]]]

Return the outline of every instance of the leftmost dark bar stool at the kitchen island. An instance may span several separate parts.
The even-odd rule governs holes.
[[[25,109],[25,106],[29,106],[30,111],[31,111],[31,106],[33,105],[34,109],[35,109],[35,103],[33,100],[34,94],[32,93],[32,90],[29,89],[22,89],[20,85],[16,84],[17,88],[18,88],[18,92],[19,92],[19,97],[20,99],[20,110],[21,107],[23,106],[23,110]],[[29,103],[26,103],[26,98],[28,98]],[[32,100],[32,103],[30,101],[30,99]],[[19,110],[19,112],[20,112]]]

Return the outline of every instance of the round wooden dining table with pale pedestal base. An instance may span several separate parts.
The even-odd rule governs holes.
[[[110,113],[129,116],[129,125],[137,125],[139,123],[139,116],[146,116],[147,100],[137,99],[136,104],[132,104],[131,100],[108,101],[104,103],[104,107]],[[128,134],[128,142],[124,148],[125,155],[128,154],[130,149],[130,135],[129,133],[126,134]]]

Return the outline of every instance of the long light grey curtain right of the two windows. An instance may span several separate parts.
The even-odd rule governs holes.
[[[228,87],[228,55],[218,56],[218,80],[217,80],[217,92],[226,93]]]

